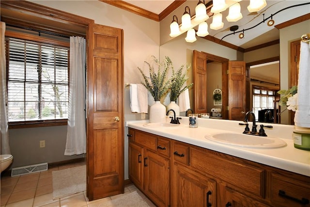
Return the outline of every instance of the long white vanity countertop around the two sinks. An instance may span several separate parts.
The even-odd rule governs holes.
[[[238,123],[240,123],[238,121],[199,118],[199,127],[197,128],[188,127],[188,117],[182,117],[182,127],[144,127],[143,125],[146,122],[148,122],[148,120],[126,121],[125,126],[297,174],[310,176],[310,151],[294,148],[294,142],[292,139],[294,126],[268,124],[272,125],[273,128],[266,128],[266,134],[268,136],[279,137],[286,142],[287,145],[280,148],[262,149],[216,143],[205,138],[205,135],[212,133],[227,131],[242,133],[244,131],[244,126],[238,126]],[[249,127],[252,127],[252,123],[249,123]]]

